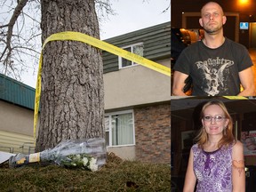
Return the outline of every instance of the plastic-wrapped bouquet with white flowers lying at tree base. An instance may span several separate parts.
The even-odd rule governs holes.
[[[39,153],[11,156],[9,166],[20,167],[35,162],[53,162],[67,168],[80,168],[95,172],[106,163],[106,156],[105,140],[102,138],[67,140],[60,142],[55,148]]]

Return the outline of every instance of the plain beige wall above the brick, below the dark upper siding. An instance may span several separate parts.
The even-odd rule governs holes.
[[[171,67],[171,60],[158,60]],[[171,98],[171,77],[143,66],[104,74],[105,110],[163,102]]]

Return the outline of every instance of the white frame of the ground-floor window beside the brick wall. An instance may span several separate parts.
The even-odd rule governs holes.
[[[116,116],[116,115],[123,115],[123,114],[129,114],[132,113],[132,140],[133,143],[132,144],[125,144],[125,145],[114,145],[112,144],[112,124],[111,124],[111,120],[112,120],[112,116]],[[135,125],[134,125],[134,113],[133,110],[124,110],[124,111],[116,111],[116,112],[111,112],[111,113],[106,113],[105,114],[105,118],[108,116],[108,131],[107,131],[107,127],[105,127],[105,132],[108,132],[108,141],[109,141],[109,145],[107,146],[107,148],[118,148],[118,147],[124,147],[124,146],[135,146]],[[106,124],[105,124],[106,126]],[[106,134],[107,135],[107,134]]]

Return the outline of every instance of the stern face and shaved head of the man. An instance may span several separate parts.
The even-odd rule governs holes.
[[[208,34],[217,34],[226,22],[226,17],[219,4],[206,4],[201,11],[200,25]]]

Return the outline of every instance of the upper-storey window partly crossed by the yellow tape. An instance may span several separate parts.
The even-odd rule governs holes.
[[[141,57],[143,57],[143,44],[132,44],[127,47],[123,47],[123,49],[127,52],[132,52],[134,54],[138,54]],[[122,57],[118,57],[118,62],[119,62],[119,68],[127,68],[131,67],[134,65],[137,65],[137,63],[134,63],[132,60],[126,60]]]

